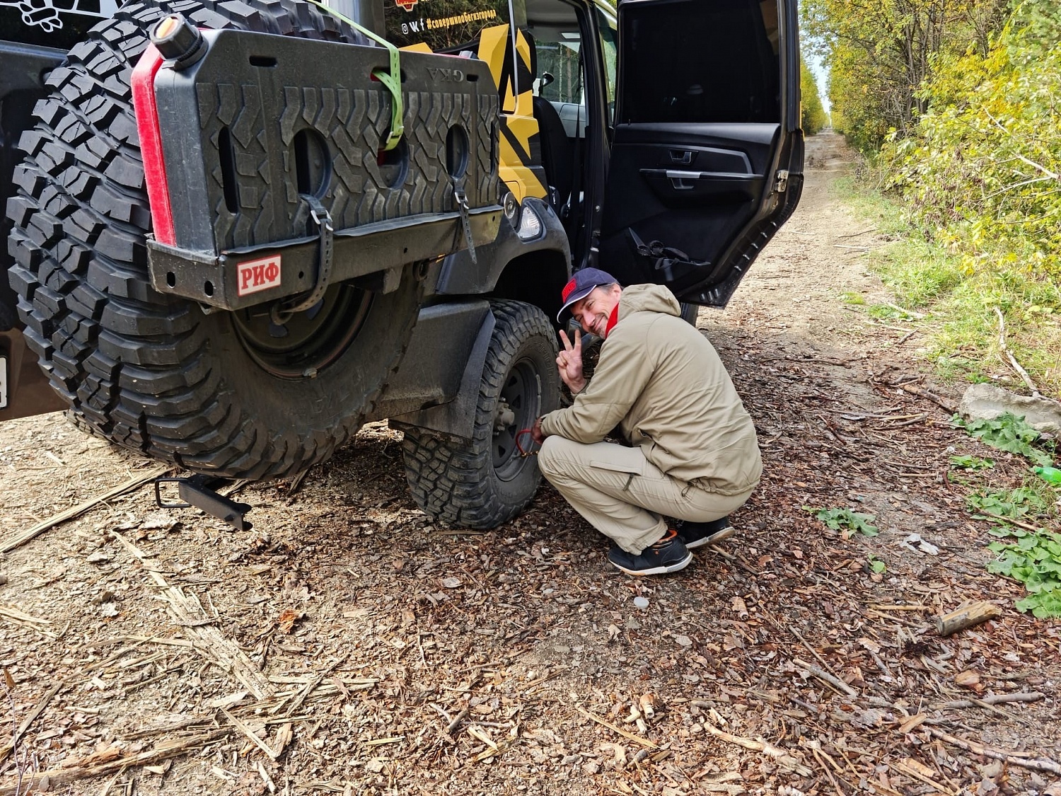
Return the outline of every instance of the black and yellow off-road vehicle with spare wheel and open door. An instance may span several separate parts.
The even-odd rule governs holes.
[[[493,526],[539,483],[517,433],[559,400],[572,270],[666,284],[695,316],[795,209],[796,0],[330,6],[0,0],[0,419],[67,409],[147,456],[263,479],[389,418],[417,503]],[[215,58],[199,105],[156,107],[160,148],[131,86],[171,14],[244,53],[258,99]],[[351,76],[348,56],[379,69]],[[147,93],[182,80],[176,50],[158,57]],[[282,277],[262,254],[278,240],[301,253]]]

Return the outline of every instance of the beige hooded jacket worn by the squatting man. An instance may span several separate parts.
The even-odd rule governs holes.
[[[738,495],[759,483],[763,469],[755,428],[714,347],[680,315],[666,288],[626,288],[589,385],[571,406],[545,415],[541,428],[598,443],[621,426],[668,475]]]

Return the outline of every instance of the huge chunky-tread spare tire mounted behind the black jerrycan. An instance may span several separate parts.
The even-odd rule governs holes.
[[[230,313],[152,289],[129,80],[145,31],[173,12],[201,28],[364,42],[299,0],[122,6],[50,73],[22,136],[7,207],[11,283],[27,342],[77,425],[194,471],[290,475],[358,430],[400,361],[422,284],[406,269],[398,290],[371,296],[356,336],[340,333],[328,366],[301,378],[260,366]]]

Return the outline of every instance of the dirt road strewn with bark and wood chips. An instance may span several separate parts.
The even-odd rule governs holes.
[[[880,242],[830,191],[839,139],[808,143],[798,212],[700,313],[764,452],[735,540],[630,578],[547,488],[494,532],[440,529],[385,426],[295,495],[244,488],[250,532],[141,488],[0,561],[28,722],[0,792],[18,766],[76,794],[1061,793],[1056,762],[1027,767],[1061,747],[1061,627],[986,572],[989,526],[947,473],[982,451],[914,394],[939,390],[917,334],[845,299],[889,300]],[[0,535],[153,466],[59,416],[0,427]],[[940,638],[969,600],[1002,617]]]

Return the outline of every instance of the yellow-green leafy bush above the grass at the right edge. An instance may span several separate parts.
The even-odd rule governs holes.
[[[936,75],[914,135],[882,150],[911,220],[969,274],[1061,277],[1061,12],[1022,10],[986,57]]]

